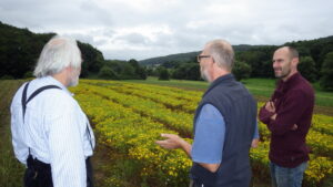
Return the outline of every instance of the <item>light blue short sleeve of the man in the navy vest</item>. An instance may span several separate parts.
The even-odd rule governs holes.
[[[225,123],[220,111],[205,104],[196,120],[194,142],[191,150],[195,163],[220,164],[225,136]]]

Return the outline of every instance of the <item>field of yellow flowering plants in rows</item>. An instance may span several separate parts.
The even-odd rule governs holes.
[[[82,80],[71,91],[89,116],[98,144],[117,159],[118,164],[105,166],[111,174],[108,185],[135,180],[140,186],[188,186],[191,160],[183,152],[162,149],[154,142],[161,133],[192,142],[193,114],[203,92],[100,80]],[[254,177],[269,178],[270,132],[262,123],[259,128],[261,143],[250,157]],[[312,153],[304,185],[323,186],[333,177],[333,117],[315,114],[306,142]]]

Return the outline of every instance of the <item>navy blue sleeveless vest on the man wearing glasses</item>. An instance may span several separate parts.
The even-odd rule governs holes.
[[[194,132],[200,111],[208,103],[221,112],[225,122],[222,163],[215,173],[193,163],[190,177],[204,187],[249,187],[249,152],[256,124],[256,102],[232,74],[220,76],[204,93],[195,111]]]

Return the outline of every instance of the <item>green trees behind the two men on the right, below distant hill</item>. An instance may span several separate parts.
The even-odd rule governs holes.
[[[333,90],[333,37],[287,42],[289,45],[297,49],[300,53],[299,71],[310,82],[319,82],[324,90]],[[274,51],[283,45],[235,45],[235,62],[233,74],[238,80],[249,77],[274,77],[272,56]],[[240,48],[241,46],[241,48]],[[160,75],[161,80],[182,79],[201,80],[200,65],[196,62],[196,53],[188,53],[188,59],[178,59],[163,62],[163,58],[155,58],[160,64],[150,64],[148,75]],[[192,55],[192,56],[191,56]],[[144,61],[145,63],[149,61]]]

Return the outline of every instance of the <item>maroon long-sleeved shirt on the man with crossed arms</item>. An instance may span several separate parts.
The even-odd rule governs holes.
[[[305,137],[311,126],[314,91],[311,84],[295,73],[285,82],[280,80],[271,101],[274,102],[274,113],[261,107],[259,118],[271,131],[270,159],[282,167],[293,168],[309,160],[309,148]],[[297,125],[293,129],[294,124]]]

